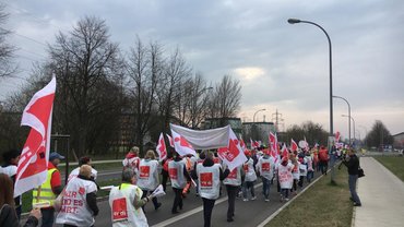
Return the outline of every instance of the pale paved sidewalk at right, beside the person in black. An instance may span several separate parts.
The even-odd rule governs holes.
[[[365,177],[358,180],[360,207],[353,226],[404,226],[404,182],[372,157],[360,157]]]

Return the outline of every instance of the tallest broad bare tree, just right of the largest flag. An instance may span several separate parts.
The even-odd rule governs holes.
[[[72,32],[59,33],[49,52],[58,77],[57,116],[64,133],[71,134],[73,148],[86,154],[97,133],[109,130],[119,118],[119,111],[110,115],[120,110],[119,87],[114,83],[114,73],[121,67],[118,45],[109,41],[103,20],[86,16]],[[100,118],[104,113],[109,118]]]

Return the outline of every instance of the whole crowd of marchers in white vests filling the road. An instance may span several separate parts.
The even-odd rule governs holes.
[[[202,199],[204,226],[211,226],[215,201],[224,188],[228,196],[228,210],[224,218],[234,222],[237,198],[243,202],[258,199],[254,189],[258,179],[262,182],[260,192],[264,202],[273,199],[270,191],[275,189],[280,194],[278,200],[286,202],[305,183],[311,182],[314,172],[326,175],[330,159],[329,151],[323,146],[293,152],[280,146],[276,153],[259,147],[246,150],[247,162],[230,170],[215,151],[200,151],[198,156],[180,156],[174,147],[168,148],[167,157],[163,160],[156,158],[153,150],[148,150],[141,158],[136,146],[126,155],[121,183],[112,187],[109,193],[112,226],[148,226],[144,206],[152,202],[154,210],[161,208],[162,203],[154,191],[162,184],[162,191],[166,192],[168,181],[175,194],[170,205],[173,215],[183,208],[190,189],[194,188],[195,195]],[[13,199],[12,195],[19,155],[17,151],[3,154],[4,165],[0,169],[0,184],[4,186],[0,187],[0,226],[20,226],[21,198]],[[340,150],[335,153],[335,156],[344,155]],[[44,227],[54,223],[68,227],[94,225],[99,212],[96,195],[99,187],[92,159],[82,157],[64,187],[58,170],[62,159],[64,157],[57,152],[49,154],[47,179],[32,192],[33,211],[25,226],[37,226],[39,219]],[[357,195],[354,200],[359,201]]]

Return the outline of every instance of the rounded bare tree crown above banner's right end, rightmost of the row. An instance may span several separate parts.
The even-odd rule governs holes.
[[[211,118],[235,117],[240,109],[241,86],[239,81],[225,75],[215,86],[209,101]]]

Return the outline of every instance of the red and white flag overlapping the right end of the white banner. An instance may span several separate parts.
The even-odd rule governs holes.
[[[241,143],[238,141],[236,134],[233,132],[231,129],[229,130],[228,146],[218,148],[217,155],[231,171],[233,169],[246,163],[247,157],[240,146]]]

